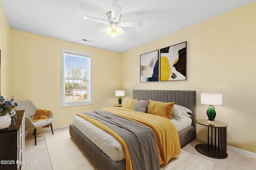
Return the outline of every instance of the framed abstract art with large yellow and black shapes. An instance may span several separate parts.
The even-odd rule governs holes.
[[[160,49],[160,81],[186,80],[187,42]]]

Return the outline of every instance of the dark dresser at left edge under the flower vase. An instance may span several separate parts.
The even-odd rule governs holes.
[[[16,111],[16,120],[0,130],[0,170],[20,170],[25,150],[24,110]]]

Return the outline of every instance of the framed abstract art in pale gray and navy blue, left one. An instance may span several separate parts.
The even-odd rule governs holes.
[[[159,81],[158,53],[156,50],[140,55],[140,82]]]

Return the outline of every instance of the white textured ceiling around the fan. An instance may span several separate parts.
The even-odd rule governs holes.
[[[254,0],[1,0],[12,29],[122,53]],[[142,20],[142,27],[123,27],[118,42],[104,32],[112,4],[122,7],[122,21]],[[82,39],[91,42],[82,41]],[[116,41],[116,39],[114,39]]]

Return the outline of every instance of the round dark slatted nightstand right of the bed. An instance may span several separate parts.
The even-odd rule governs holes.
[[[207,119],[196,120],[196,123],[198,123],[199,125],[208,127],[208,144],[198,144],[196,145],[196,150],[201,154],[204,154],[205,156],[209,156],[211,158],[218,158],[218,159],[227,158],[228,157],[228,154],[227,154],[228,125],[221,121],[215,121],[215,123],[208,123],[207,121],[208,121]],[[213,138],[213,133],[214,133],[214,138]],[[211,143],[209,143],[210,135],[211,135]],[[213,140],[214,140],[214,145],[213,145]],[[218,142],[217,144],[216,144],[216,141]]]

